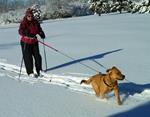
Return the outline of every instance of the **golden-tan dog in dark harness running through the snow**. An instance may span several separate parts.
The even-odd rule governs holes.
[[[97,97],[105,98],[105,94],[114,90],[117,103],[121,105],[117,80],[123,80],[125,75],[121,71],[112,67],[106,71],[106,74],[96,74],[88,80],[82,80],[80,84],[91,84]]]

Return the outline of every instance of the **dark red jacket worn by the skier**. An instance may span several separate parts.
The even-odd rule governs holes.
[[[24,17],[18,31],[21,35],[21,41],[28,44],[33,44],[38,41],[36,37],[37,34],[40,35],[41,38],[45,38],[45,34],[39,22],[35,19],[28,21],[27,18]]]

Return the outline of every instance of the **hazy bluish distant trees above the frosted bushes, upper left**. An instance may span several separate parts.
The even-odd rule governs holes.
[[[87,3],[88,0],[0,0],[0,13],[21,8],[31,7],[33,4],[46,5],[48,11],[65,7],[71,2]]]

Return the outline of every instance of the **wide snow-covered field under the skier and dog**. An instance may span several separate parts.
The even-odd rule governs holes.
[[[19,24],[0,26],[0,117],[150,116],[149,19],[149,14],[109,14],[42,24],[45,43],[73,60],[99,55],[96,61],[106,68],[115,65],[121,69],[126,75],[126,80],[119,82],[121,106],[113,92],[108,100],[101,100],[91,86],[80,85],[82,79],[96,74],[80,63],[48,71],[39,79],[29,78],[23,67],[19,79]],[[40,50],[45,69],[41,44]],[[46,53],[48,68],[72,61],[47,47]],[[106,71],[92,60],[82,63]]]

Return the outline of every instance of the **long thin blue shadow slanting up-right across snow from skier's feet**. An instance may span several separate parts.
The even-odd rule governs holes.
[[[55,69],[58,69],[58,68],[61,68],[61,67],[65,67],[65,66],[68,66],[68,65],[72,65],[72,64],[75,64],[75,63],[80,63],[80,62],[85,61],[85,60],[100,59],[100,58],[103,58],[105,55],[108,55],[108,54],[111,54],[111,53],[114,53],[114,52],[118,52],[118,51],[121,51],[121,50],[123,50],[123,49],[112,50],[112,51],[108,51],[108,52],[105,52],[105,53],[97,54],[97,55],[94,55],[94,56],[88,56],[88,57],[81,58],[81,59],[72,59],[73,61],[70,61],[70,62],[67,62],[67,63],[63,63],[63,64],[60,64],[60,65],[48,68],[45,71],[55,70]]]

